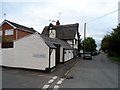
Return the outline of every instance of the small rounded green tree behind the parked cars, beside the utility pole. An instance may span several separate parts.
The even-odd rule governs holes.
[[[96,50],[97,45],[92,37],[87,37],[82,43],[84,51],[93,52]]]

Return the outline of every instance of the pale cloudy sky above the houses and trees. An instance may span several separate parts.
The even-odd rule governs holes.
[[[0,23],[10,20],[33,27],[42,32],[52,20],[61,25],[79,23],[83,39],[84,23],[87,23],[87,37],[93,37],[99,45],[104,35],[118,25],[119,0],[2,0],[0,2]],[[4,15],[6,13],[6,15]],[[55,23],[53,23],[55,24]]]

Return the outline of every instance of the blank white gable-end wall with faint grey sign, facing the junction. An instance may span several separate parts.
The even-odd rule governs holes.
[[[14,44],[14,48],[2,49],[2,65],[38,70],[49,67],[49,47],[40,35],[30,35],[17,40]],[[54,57],[53,54],[52,56]]]

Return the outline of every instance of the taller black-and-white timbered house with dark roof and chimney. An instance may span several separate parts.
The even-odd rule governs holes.
[[[56,25],[50,24],[49,26],[45,26],[42,34],[50,38],[58,38],[59,40],[65,41],[74,49],[74,57],[77,57],[80,46],[78,27],[78,23],[68,25],[60,25],[60,23]]]

